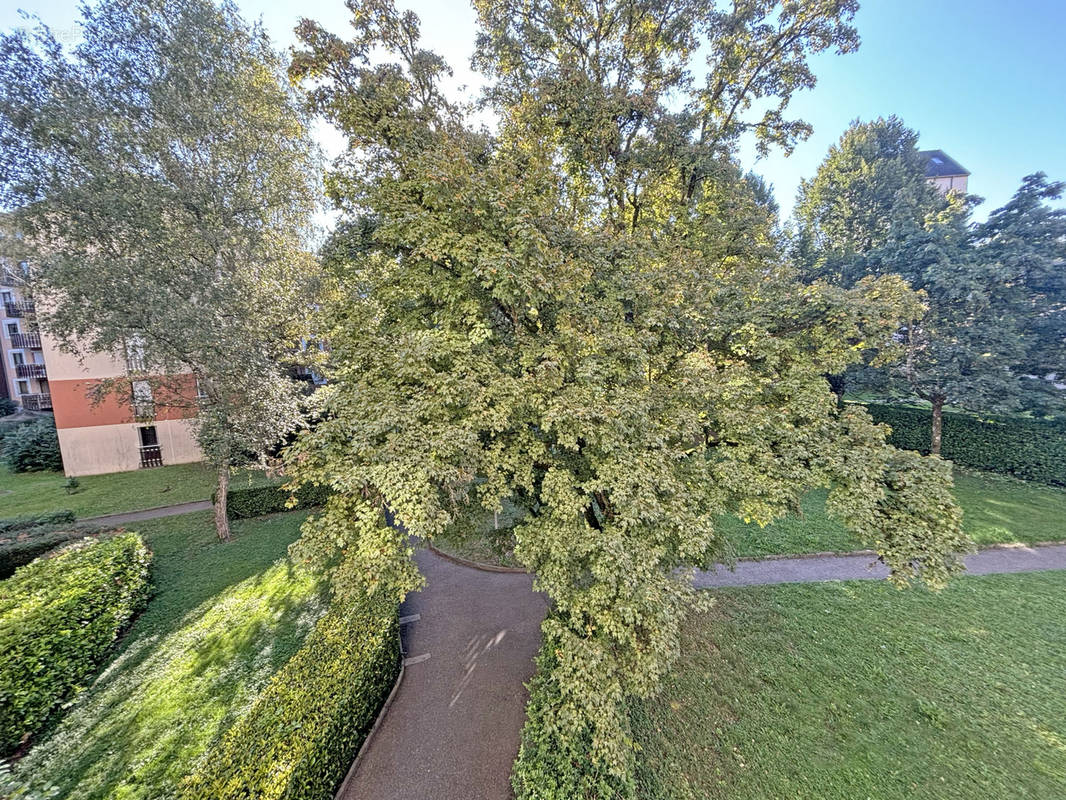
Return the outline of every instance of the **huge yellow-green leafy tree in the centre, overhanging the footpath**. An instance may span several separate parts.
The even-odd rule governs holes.
[[[327,185],[351,220],[328,259],[333,383],[292,451],[336,494],[295,553],[339,592],[402,596],[410,537],[523,510],[516,555],[552,602],[538,679],[561,697],[523,753],[571,766],[519,767],[522,796],[586,796],[552,784],[576,763],[631,786],[625,700],[668,669],[684,567],[728,551],[720,514],[766,523],[827,486],[895,580],[958,567],[947,466],[886,446],[822,377],[912,298],[894,277],[802,284],[732,155],[807,132],[789,98],[809,53],[855,47],[854,6],[479,0],[491,132],[387,0],[350,3],[349,41],[298,28],[291,75],[348,138]]]

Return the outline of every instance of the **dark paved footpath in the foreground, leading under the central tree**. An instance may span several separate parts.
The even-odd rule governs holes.
[[[337,800],[508,800],[547,602],[524,573],[416,560],[403,682]]]

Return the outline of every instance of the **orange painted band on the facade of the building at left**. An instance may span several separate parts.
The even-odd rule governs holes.
[[[196,380],[193,375],[179,375],[167,380],[177,384],[176,394],[181,400],[172,400],[173,404],[168,405],[165,402],[166,396],[161,390],[154,389],[156,411],[154,418],[159,420],[188,419],[194,416]],[[133,409],[128,399],[130,396],[128,393],[115,389],[104,395],[99,402],[93,402],[93,393],[98,389],[102,381],[92,379],[49,381],[48,387],[52,396],[55,427],[62,430],[133,422]]]

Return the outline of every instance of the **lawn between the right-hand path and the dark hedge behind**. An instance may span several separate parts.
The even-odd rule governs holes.
[[[963,527],[978,545],[1066,540],[1066,490],[984,473],[955,473]],[[720,529],[738,556],[853,550],[861,544],[825,515],[825,492],[811,492],[803,515],[765,528],[724,517]]]

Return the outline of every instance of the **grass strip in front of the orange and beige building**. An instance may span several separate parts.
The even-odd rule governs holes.
[[[263,473],[248,470],[235,476],[231,483],[236,489],[263,480]],[[88,475],[78,481],[78,491],[67,494],[63,473],[16,474],[0,467],[0,516],[70,509],[79,517],[86,517],[208,500],[215,473],[205,464],[174,464]]]

